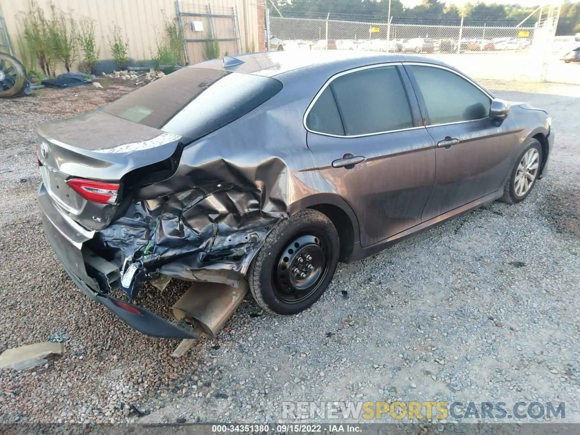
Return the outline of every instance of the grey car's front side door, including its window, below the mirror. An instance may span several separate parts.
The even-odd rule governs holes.
[[[436,182],[422,220],[497,191],[518,146],[513,119],[489,117],[492,97],[455,71],[406,63],[427,125],[437,143]]]

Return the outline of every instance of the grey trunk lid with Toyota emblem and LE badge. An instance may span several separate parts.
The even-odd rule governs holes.
[[[137,168],[171,158],[181,136],[100,110],[39,127],[42,182],[61,214],[89,230],[103,229],[118,208],[87,201],[66,183],[71,178],[115,182]]]

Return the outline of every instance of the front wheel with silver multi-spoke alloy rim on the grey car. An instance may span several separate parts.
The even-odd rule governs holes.
[[[503,188],[503,202],[517,204],[528,197],[538,180],[542,158],[542,145],[538,140],[530,139],[528,146],[517,158],[510,179]]]

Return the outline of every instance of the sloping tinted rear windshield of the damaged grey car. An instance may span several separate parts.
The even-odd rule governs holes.
[[[242,117],[282,89],[259,75],[206,68],[181,68],[103,111],[129,121],[197,139]]]

